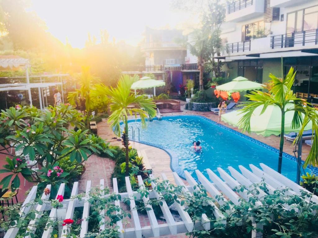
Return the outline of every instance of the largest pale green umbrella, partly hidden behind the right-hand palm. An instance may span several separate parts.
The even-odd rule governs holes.
[[[294,103],[286,104],[286,109],[293,108]],[[281,110],[279,106],[275,104],[268,105],[263,114],[261,111],[263,109],[263,105],[257,107],[253,111],[253,115],[251,116],[251,132],[255,132],[257,135],[262,136],[270,136],[270,135],[280,135],[281,129]],[[239,127],[239,121],[242,118],[243,114],[237,110],[232,111],[226,114],[221,115],[221,120],[227,122],[233,126]],[[301,126],[299,128],[292,128],[294,111],[287,111],[285,113],[285,133],[288,134],[290,132],[299,132]],[[312,129],[312,123],[309,122],[304,130]],[[283,135],[282,135],[283,136]],[[301,168],[301,145],[302,138],[298,143],[298,159],[297,159],[297,182],[300,179],[300,168]]]

